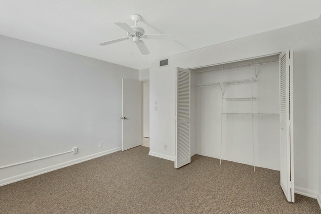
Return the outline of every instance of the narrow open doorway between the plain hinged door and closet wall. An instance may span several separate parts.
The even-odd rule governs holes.
[[[149,81],[142,83],[142,146],[149,147]]]

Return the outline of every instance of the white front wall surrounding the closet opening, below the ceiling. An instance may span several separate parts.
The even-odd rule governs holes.
[[[253,35],[170,57],[168,67],[150,63],[150,153],[175,157],[175,67],[195,68],[294,50],[295,191],[316,197],[319,183],[319,29],[318,20]],[[163,144],[167,142],[168,149]],[[195,142],[194,142],[195,144]],[[192,154],[195,154],[192,145]]]

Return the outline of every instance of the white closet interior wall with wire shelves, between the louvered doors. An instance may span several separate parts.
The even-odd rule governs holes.
[[[277,56],[193,69],[191,113],[197,154],[280,170]]]

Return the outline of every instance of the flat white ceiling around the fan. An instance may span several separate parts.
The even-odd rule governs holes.
[[[132,26],[139,14],[145,34],[173,34],[177,42],[144,40],[142,56],[113,24]],[[320,0],[0,0],[0,35],[144,69],[152,59],[317,19]],[[154,29],[150,26],[153,26]],[[158,31],[157,31],[158,30]]]

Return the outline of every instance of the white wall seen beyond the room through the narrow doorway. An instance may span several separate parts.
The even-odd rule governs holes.
[[[143,83],[143,136],[149,137],[149,82]]]

